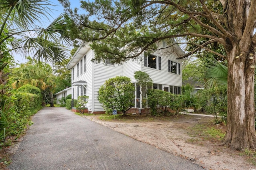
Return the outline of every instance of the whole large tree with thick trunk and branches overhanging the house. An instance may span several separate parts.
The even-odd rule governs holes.
[[[177,59],[201,49],[213,53],[214,58],[226,59],[228,123],[223,142],[237,150],[256,149],[252,93],[256,63],[255,0],[82,0],[81,8],[86,13],[81,15],[77,9],[70,9],[68,0],[59,1],[70,16],[67,22],[72,38],[91,42],[96,62],[138,59],[145,50],[159,50],[158,44],[163,40],[175,44],[176,37],[197,38],[178,42],[192,46],[187,55]]]

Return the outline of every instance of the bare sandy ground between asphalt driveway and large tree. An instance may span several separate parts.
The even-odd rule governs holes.
[[[212,117],[186,115],[171,121],[139,118],[102,121],[98,116],[84,117],[138,141],[188,159],[208,170],[256,169],[256,166],[246,160],[246,156],[241,156],[242,152],[224,147],[220,141],[202,140],[200,134],[195,137],[189,135],[189,127],[212,120]]]

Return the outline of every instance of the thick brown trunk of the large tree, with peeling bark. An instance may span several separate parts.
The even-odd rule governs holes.
[[[238,44],[227,52],[228,59],[228,114],[224,144],[236,150],[256,149],[254,127],[254,49],[243,49]]]

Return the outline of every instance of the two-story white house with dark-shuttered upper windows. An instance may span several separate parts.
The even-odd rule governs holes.
[[[159,45],[159,48],[165,46],[165,42]],[[184,52],[178,45],[167,49],[156,51],[152,55],[140,55],[140,62],[126,61],[123,64],[92,63],[94,52],[90,45],[86,44],[80,47],[72,59],[67,64],[67,68],[72,70],[72,98],[78,96],[89,96],[88,112],[104,113],[100,102],[97,100],[98,90],[102,84],[109,78],[115,76],[127,76],[134,83],[135,98],[133,100],[134,109],[142,108],[142,96],[139,93],[139,86],[136,86],[134,72],[141,70],[147,72],[153,80],[153,88],[165,90],[174,94],[181,94],[182,86],[182,60],[177,60],[178,55],[184,55]],[[134,110],[132,109],[132,110]]]

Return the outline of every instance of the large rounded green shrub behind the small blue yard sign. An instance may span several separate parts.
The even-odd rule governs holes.
[[[131,79],[125,76],[116,76],[106,80],[98,91],[98,100],[103,105],[106,113],[113,109],[122,111],[123,115],[132,108],[134,99],[134,85]]]

